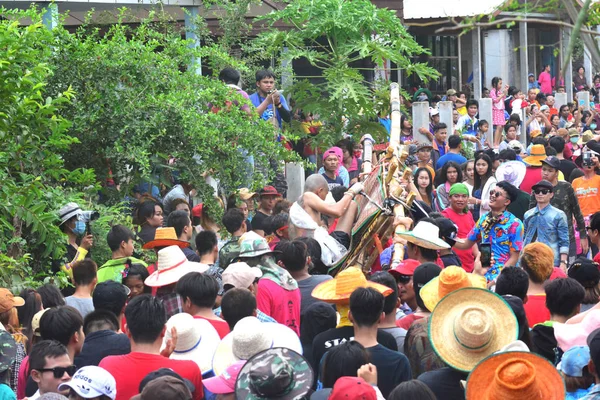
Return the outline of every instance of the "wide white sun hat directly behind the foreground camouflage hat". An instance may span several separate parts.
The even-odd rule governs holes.
[[[249,360],[261,351],[285,347],[302,354],[298,334],[276,322],[260,322],[256,317],[242,318],[221,340],[213,357],[213,372],[221,375],[237,361]]]

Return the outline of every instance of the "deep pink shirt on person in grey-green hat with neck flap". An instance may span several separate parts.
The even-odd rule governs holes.
[[[256,306],[300,336],[300,289],[285,290],[270,279],[258,281]]]

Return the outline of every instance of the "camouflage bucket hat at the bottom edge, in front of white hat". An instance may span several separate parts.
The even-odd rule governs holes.
[[[312,367],[293,350],[276,347],[256,354],[244,365],[235,384],[238,399],[300,400],[314,381]]]

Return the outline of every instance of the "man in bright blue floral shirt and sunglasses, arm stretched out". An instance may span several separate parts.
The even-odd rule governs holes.
[[[498,182],[490,192],[491,211],[483,214],[464,243],[455,248],[470,249],[476,243],[491,244],[492,260],[485,271],[488,282],[496,280],[504,267],[514,267],[523,249],[523,223],[506,210],[519,195],[519,189],[506,181]]]

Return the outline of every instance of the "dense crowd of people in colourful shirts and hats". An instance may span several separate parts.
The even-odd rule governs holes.
[[[220,77],[274,126],[319,134],[270,71],[251,96],[235,70]],[[296,146],[320,168],[298,199],[275,176],[220,198],[220,221],[190,184],[141,187],[110,260],[94,257],[91,213],[64,205],[56,270],[73,288],[0,289],[0,398],[600,399],[598,114],[500,78],[489,92],[493,121],[447,92],[454,132],[431,101],[428,141],[402,116],[416,196],[372,265],[343,265],[365,194],[352,138]]]

